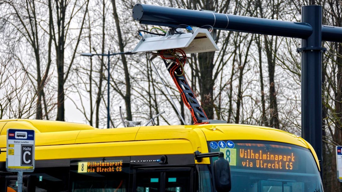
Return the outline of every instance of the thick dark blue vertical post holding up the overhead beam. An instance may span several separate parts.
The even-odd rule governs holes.
[[[318,156],[322,170],[322,6],[302,6],[302,22],[311,25],[313,32],[302,39],[302,137]]]

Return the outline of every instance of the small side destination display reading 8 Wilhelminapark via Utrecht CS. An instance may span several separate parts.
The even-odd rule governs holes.
[[[122,160],[78,162],[77,173],[122,172]]]

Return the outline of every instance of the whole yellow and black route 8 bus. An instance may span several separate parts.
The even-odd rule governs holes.
[[[98,129],[1,120],[1,151],[6,150],[9,128],[36,132],[35,170],[24,173],[24,191],[215,192],[229,191],[219,186],[226,181],[234,192],[323,191],[312,146],[274,128],[201,124]],[[15,191],[17,177],[6,172],[5,159],[2,152],[0,188]],[[219,160],[227,160],[228,169],[214,165]]]

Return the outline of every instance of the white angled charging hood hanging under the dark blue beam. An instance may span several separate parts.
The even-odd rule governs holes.
[[[196,29],[194,34],[182,33],[170,35],[167,32],[165,36],[145,34],[143,37],[145,41],[141,39],[132,53],[177,48],[182,49],[186,54],[220,50],[209,31],[202,28]]]

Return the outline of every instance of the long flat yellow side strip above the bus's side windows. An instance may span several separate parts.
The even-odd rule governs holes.
[[[83,143],[38,146],[36,147],[36,160],[189,154],[193,153],[192,150],[192,144],[185,139]]]

